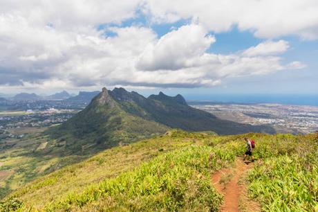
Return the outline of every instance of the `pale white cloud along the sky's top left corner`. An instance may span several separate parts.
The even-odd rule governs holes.
[[[85,26],[120,23],[135,16],[140,0],[1,0],[0,13],[24,17],[30,26],[86,32]]]

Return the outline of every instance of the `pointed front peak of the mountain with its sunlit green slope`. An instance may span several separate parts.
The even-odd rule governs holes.
[[[84,110],[49,133],[66,142],[64,154],[89,154],[167,130],[160,123],[125,112],[104,88]]]

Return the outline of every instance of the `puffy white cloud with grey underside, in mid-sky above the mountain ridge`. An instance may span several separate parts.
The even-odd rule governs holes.
[[[140,55],[137,66],[147,71],[193,67],[195,59],[214,42],[214,36],[207,35],[202,26],[182,26],[162,36],[155,44],[150,43]]]

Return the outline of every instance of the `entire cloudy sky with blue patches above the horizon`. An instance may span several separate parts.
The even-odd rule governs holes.
[[[318,91],[317,0],[1,0],[0,93]]]

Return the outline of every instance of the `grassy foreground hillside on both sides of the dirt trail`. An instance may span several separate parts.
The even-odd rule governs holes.
[[[256,141],[256,162],[241,179],[247,197],[263,211],[317,210],[318,134],[176,130],[66,166],[15,191],[1,206],[4,211],[218,211],[223,195],[211,175],[234,166],[245,151],[245,136]]]

